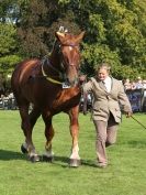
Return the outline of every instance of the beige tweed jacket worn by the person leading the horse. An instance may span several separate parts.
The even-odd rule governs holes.
[[[92,119],[108,121],[110,112],[113,115],[115,122],[120,123],[122,119],[121,108],[123,111],[132,111],[131,104],[124,91],[123,84],[113,77],[111,91],[108,93],[104,84],[97,78],[90,78],[83,85],[83,93],[91,91],[93,95]]]

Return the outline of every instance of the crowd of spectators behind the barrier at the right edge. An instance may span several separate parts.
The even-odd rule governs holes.
[[[125,90],[146,89],[146,79],[142,79],[141,77],[137,77],[137,80],[126,78],[123,84]]]

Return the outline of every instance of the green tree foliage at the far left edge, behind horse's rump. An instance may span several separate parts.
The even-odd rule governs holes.
[[[11,75],[15,64],[22,59],[14,25],[15,8],[14,0],[0,1],[0,88],[5,87],[8,75]]]

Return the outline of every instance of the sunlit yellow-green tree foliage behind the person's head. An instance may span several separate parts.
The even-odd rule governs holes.
[[[145,77],[146,36],[139,28],[139,4],[136,1],[130,3],[130,1],[94,0],[86,6],[83,3],[82,9],[88,12],[87,20],[85,19],[86,66],[108,61],[113,66],[113,74],[116,77],[134,78],[137,75]]]

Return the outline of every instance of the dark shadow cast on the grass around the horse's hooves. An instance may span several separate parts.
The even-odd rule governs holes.
[[[10,151],[10,150],[0,150],[0,161],[12,161],[12,160],[26,161],[26,155],[21,152],[14,152],[14,151]],[[44,162],[42,160],[42,158],[41,158],[41,162]],[[55,155],[53,164],[57,164],[63,167],[68,167],[69,166],[69,158]],[[96,166],[93,164],[93,162],[90,160],[81,160],[81,165],[92,166],[92,167]]]

